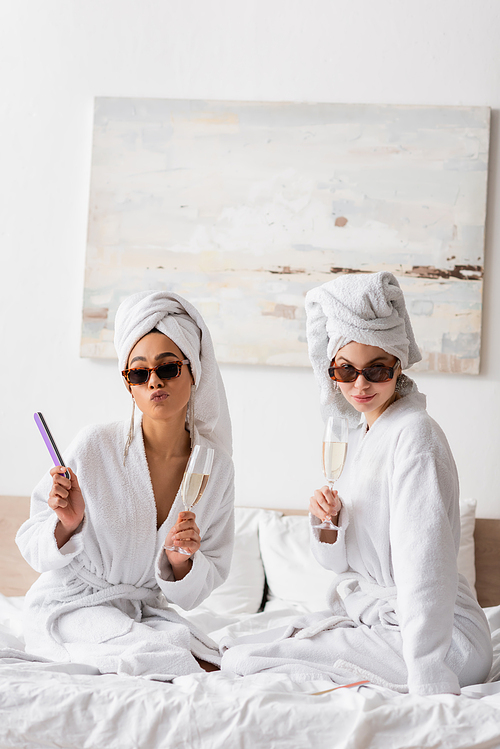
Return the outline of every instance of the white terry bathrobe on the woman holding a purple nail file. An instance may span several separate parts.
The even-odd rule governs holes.
[[[169,680],[217,663],[218,649],[169,604],[197,606],[227,577],[233,545],[233,465],[215,448],[207,489],[196,506],[201,548],[175,581],[162,546],[183,511],[180,492],[157,530],[142,429],[123,461],[128,425],[84,429],[64,452],[85,499],[80,529],[61,549],[47,505],[49,475],[36,487],[17,543],[43,573],[26,596],[26,650],[56,661]],[[200,444],[210,444],[198,437]]]

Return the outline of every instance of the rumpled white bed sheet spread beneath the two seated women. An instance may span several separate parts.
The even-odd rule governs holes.
[[[273,607],[271,607],[272,609]],[[276,607],[275,607],[276,608]],[[198,609],[218,639],[279,626],[294,608],[239,618]],[[500,606],[486,610],[500,676]],[[184,676],[172,684],[20,661],[22,599],[0,596],[0,749],[403,749],[500,747],[500,682],[459,697],[296,684],[278,674]],[[86,673],[75,673],[78,671]]]

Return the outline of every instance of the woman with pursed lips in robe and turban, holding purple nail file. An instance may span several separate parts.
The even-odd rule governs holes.
[[[229,572],[229,412],[210,334],[185,299],[135,294],[115,331],[132,419],[85,429],[65,451],[70,479],[54,468],[33,493],[17,536],[42,573],[26,597],[26,646],[100,673],[169,680],[220,660],[170,604],[193,608]],[[196,515],[179,491],[194,445],[215,452]]]

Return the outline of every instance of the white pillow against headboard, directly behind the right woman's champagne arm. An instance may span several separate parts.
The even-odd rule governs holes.
[[[298,603],[305,611],[326,609],[326,594],[335,573],[313,557],[309,517],[268,510],[260,518],[259,540],[269,599]]]

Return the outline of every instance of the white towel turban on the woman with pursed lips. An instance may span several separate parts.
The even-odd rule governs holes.
[[[231,455],[231,420],[212,338],[202,316],[186,299],[168,291],[140,291],[120,304],[114,341],[120,373],[135,344],[154,328],[190,361],[195,391],[192,440],[201,435]]]

